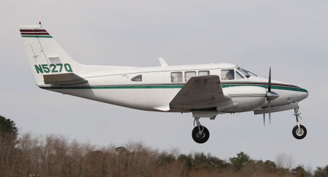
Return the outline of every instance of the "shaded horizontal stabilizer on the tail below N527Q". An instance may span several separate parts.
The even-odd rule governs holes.
[[[88,80],[81,78],[74,73],[48,74],[43,75],[43,78],[45,84],[52,85],[69,85],[88,82]]]

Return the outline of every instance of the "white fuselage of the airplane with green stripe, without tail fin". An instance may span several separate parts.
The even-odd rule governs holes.
[[[198,76],[200,73],[209,71],[210,75],[220,76],[223,93],[231,97],[234,105],[233,107],[221,108],[219,108],[220,105],[217,105],[219,112],[238,113],[268,107],[268,102],[265,99],[268,79],[257,76],[247,78],[239,73],[236,68],[237,66],[233,64],[201,64],[117,69],[110,72],[80,75],[80,77],[88,80],[86,83],[49,86],[43,82],[38,82],[37,85],[54,92],[134,109],[182,112],[181,110],[170,109],[169,104],[181,87],[185,85],[186,72],[196,72],[196,76]],[[238,72],[243,78],[235,77],[230,80],[222,80],[221,70],[227,69],[235,70],[236,75]],[[181,78],[174,80],[172,72],[182,72],[182,81]],[[141,75],[140,78],[131,80],[139,75]],[[298,102],[308,96],[308,92],[300,87],[275,80],[272,80],[272,91],[279,94],[279,97],[271,102],[272,106]]]

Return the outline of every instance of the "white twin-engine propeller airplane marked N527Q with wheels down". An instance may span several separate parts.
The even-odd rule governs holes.
[[[294,109],[293,136],[303,139],[298,102],[308,97],[301,87],[261,78],[228,63],[116,67],[84,65],[73,60],[39,23],[19,26],[36,85],[90,100],[154,112],[192,113],[192,138],[206,142],[209,130],[199,118],[254,111],[255,115]]]

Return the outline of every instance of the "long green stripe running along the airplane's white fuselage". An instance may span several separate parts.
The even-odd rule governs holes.
[[[53,86],[53,87],[42,87],[42,89],[181,89],[184,85],[113,85],[113,86]],[[222,87],[230,86],[260,86],[268,89],[268,85],[252,85],[252,84],[224,84]],[[305,89],[289,87],[289,86],[276,86],[272,85],[271,89],[306,92]]]

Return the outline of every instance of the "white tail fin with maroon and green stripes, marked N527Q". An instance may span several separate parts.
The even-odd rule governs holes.
[[[36,82],[44,82],[44,75],[63,73],[85,74],[87,65],[73,60],[52,38],[38,26],[19,26]]]

